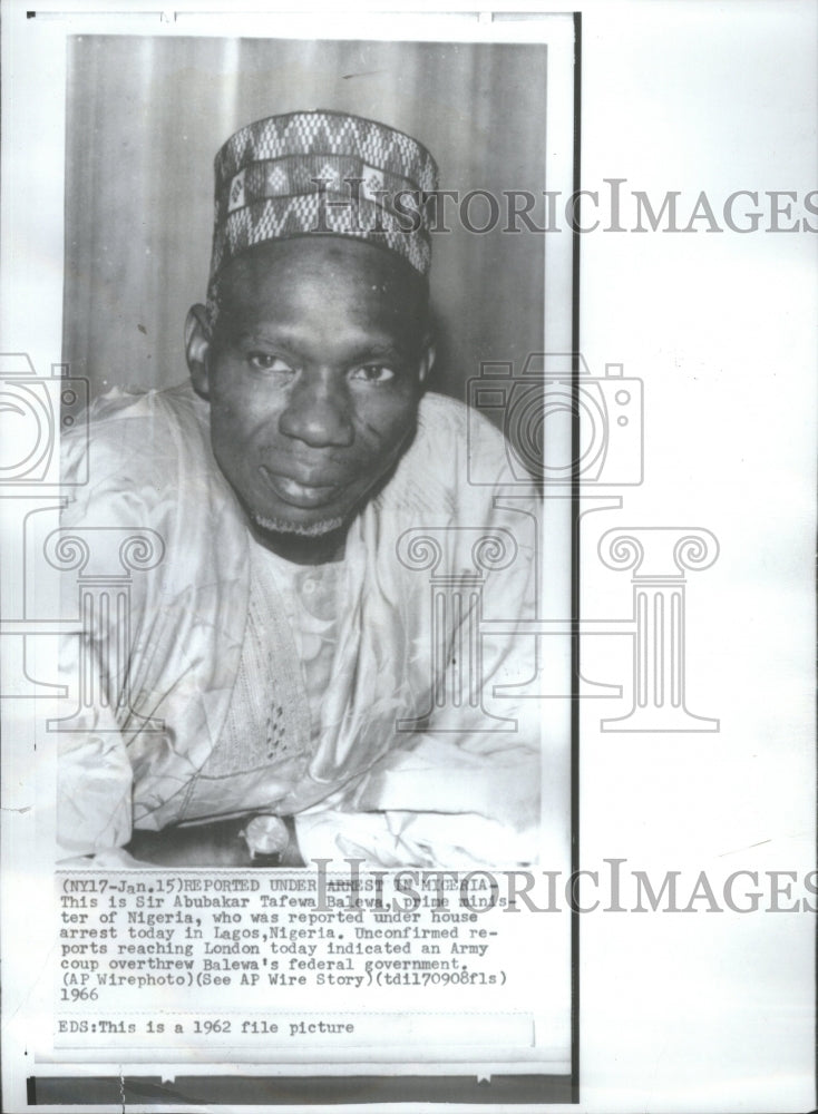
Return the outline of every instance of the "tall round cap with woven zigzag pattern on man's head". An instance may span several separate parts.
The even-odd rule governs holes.
[[[366,240],[429,272],[423,195],[437,166],[402,131],[344,113],[270,116],[231,136],[215,170],[212,292],[247,248],[315,233]]]

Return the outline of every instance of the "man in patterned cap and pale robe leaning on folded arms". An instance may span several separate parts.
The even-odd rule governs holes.
[[[95,615],[67,649],[72,675],[92,659],[98,693],[61,734],[67,856],[533,858],[536,702],[486,713],[530,663],[513,634],[474,632],[479,588],[506,631],[533,614],[535,539],[495,505],[503,438],[426,391],[428,222],[421,205],[401,222],[395,199],[435,188],[420,144],[334,113],[260,120],[218,153],[191,382],[97,403],[90,479],[64,516],[69,534],[164,545],[133,578],[127,627]],[[494,487],[468,483],[467,451]],[[80,453],[67,439],[69,477]],[[486,541],[508,550],[497,571],[475,556]],[[479,676],[449,700],[458,654]]]

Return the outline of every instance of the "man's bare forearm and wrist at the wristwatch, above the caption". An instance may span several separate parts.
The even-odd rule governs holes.
[[[290,846],[280,856],[250,853],[242,832],[250,817],[210,824],[165,828],[160,832],[134,831],[125,850],[142,862],[159,867],[302,867],[292,819]]]

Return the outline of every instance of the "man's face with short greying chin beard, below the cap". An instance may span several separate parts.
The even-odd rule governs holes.
[[[249,514],[274,534],[345,526],[415,430],[431,359],[415,276],[360,241],[282,241],[226,272],[210,343],[192,313],[194,385]]]

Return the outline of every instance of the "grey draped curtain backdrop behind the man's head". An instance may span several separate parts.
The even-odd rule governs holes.
[[[370,116],[431,150],[441,188],[546,188],[543,45],[78,36],[68,50],[64,360],[92,394],[186,378],[213,157],[252,120]],[[474,222],[486,212],[476,202]],[[465,399],[480,360],[520,363],[543,348],[545,237],[447,223],[455,231],[434,237],[434,385]]]

